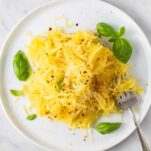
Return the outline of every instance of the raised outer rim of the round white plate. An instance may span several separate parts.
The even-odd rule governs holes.
[[[30,16],[32,16],[34,13],[36,13],[39,9],[42,9],[42,8],[46,7],[47,5],[52,5],[52,4],[54,4],[54,3],[63,2],[63,1],[66,1],[66,0],[51,0],[51,1],[47,1],[47,2],[44,2],[44,3],[42,3],[42,4],[39,4],[37,7],[34,7],[33,9],[31,9],[28,13],[26,13],[25,15],[23,15],[23,17],[21,17],[21,18],[17,21],[17,23],[11,28],[11,30],[8,32],[6,38],[5,38],[5,39],[3,40],[3,42],[2,42],[2,45],[1,45],[1,48],[0,48],[0,67],[1,67],[1,65],[2,65],[2,63],[3,63],[3,56],[4,56],[4,53],[6,52],[6,48],[5,48],[5,47],[7,46],[7,42],[8,42],[8,40],[10,39],[11,35],[15,32],[15,30],[20,26],[20,24],[21,24],[25,19],[27,19],[28,17],[30,17]],[[69,0],[68,0],[68,1],[69,1]],[[72,0],[72,1],[73,1],[73,0]],[[83,0],[83,1],[84,1],[84,0]],[[86,0],[85,0],[85,1],[86,1]],[[87,2],[88,2],[88,1],[89,1],[89,2],[90,2],[90,1],[93,1],[93,2],[94,2],[94,0],[87,0]],[[150,42],[149,42],[149,40],[148,40],[148,37],[146,36],[146,34],[145,34],[144,31],[142,30],[142,28],[141,28],[141,27],[137,24],[137,22],[133,19],[133,17],[131,17],[130,15],[128,15],[125,11],[123,11],[123,10],[120,9],[119,7],[115,6],[114,4],[111,4],[110,2],[106,2],[106,1],[103,1],[103,0],[95,0],[95,1],[100,2],[100,3],[105,3],[105,4],[107,4],[107,5],[109,5],[109,6],[113,7],[113,8],[115,8],[116,10],[118,10],[118,11],[124,13],[124,14],[125,14],[129,19],[131,19],[131,20],[133,21],[133,23],[135,23],[135,25],[139,28],[141,34],[143,34],[143,36],[144,36],[146,42],[148,43],[148,46],[151,48],[151,44],[150,44]],[[147,60],[147,64],[151,64],[151,61]],[[1,70],[1,69],[2,69],[2,68],[0,68],[0,70]],[[149,69],[149,68],[148,68],[148,69]],[[148,70],[148,71],[149,71],[149,70]],[[149,73],[150,73],[150,72],[148,72],[148,75],[149,75],[149,76],[148,76],[148,79],[151,79],[151,75],[150,75]],[[1,81],[1,75],[0,75],[0,81]],[[1,84],[0,84],[0,90],[1,90]],[[2,94],[1,94],[1,91],[0,91],[0,106],[1,106],[1,108],[2,108],[2,110],[3,110],[3,113],[4,113],[5,117],[7,117],[9,123],[11,123],[11,125],[18,131],[18,133],[19,133],[20,135],[22,135],[26,140],[28,140],[29,142],[31,142],[32,144],[34,144],[35,146],[37,146],[37,147],[39,147],[39,148],[41,148],[41,149],[49,150],[49,151],[53,149],[53,146],[52,146],[52,148],[47,148],[47,147],[45,147],[45,146],[43,146],[43,145],[38,144],[37,141],[33,140],[32,138],[28,137],[28,135],[26,135],[26,133],[22,132],[22,130],[12,121],[11,117],[9,116],[9,114],[7,113],[7,110],[6,110],[6,108],[5,108],[5,105],[4,105],[4,102],[3,102],[4,100],[3,100],[3,101],[2,101],[2,100],[3,100],[3,99],[2,99]],[[144,118],[146,117],[146,115],[147,115],[147,113],[148,113],[150,107],[151,107],[151,102],[150,102],[150,104],[149,104],[148,110],[146,111],[146,113],[144,114],[144,116],[142,116],[142,119],[141,119],[140,123],[142,123],[142,121],[143,121]],[[125,135],[125,136],[124,136],[120,141],[118,141],[116,144],[112,144],[112,145],[106,147],[105,150],[106,150],[106,149],[109,149],[109,148],[112,148],[112,147],[114,147],[114,146],[117,146],[118,144],[120,144],[121,142],[123,142],[125,139],[127,139],[130,135],[132,135],[135,130],[136,130],[136,128],[134,128],[133,130],[131,130],[128,135]],[[58,151],[60,151],[60,149],[58,149],[58,148],[56,148],[56,149],[57,149]]]

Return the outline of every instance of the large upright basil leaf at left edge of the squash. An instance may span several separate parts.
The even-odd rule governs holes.
[[[14,72],[20,81],[26,81],[31,73],[30,64],[24,52],[19,50],[13,60]]]

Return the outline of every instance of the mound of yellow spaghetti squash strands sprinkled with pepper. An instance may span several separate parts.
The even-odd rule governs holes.
[[[142,91],[129,66],[91,31],[52,29],[33,37],[27,54],[33,73],[23,92],[36,114],[72,128],[88,128],[97,118],[120,112],[116,97],[121,92]]]

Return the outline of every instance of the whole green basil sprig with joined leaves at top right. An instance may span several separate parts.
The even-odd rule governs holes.
[[[121,27],[117,32],[112,26],[101,22],[96,25],[96,29],[99,35],[109,37],[109,42],[113,43],[115,57],[122,63],[127,63],[132,55],[132,46],[127,39],[122,38],[125,27]]]

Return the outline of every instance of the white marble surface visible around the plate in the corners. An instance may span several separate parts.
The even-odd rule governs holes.
[[[32,8],[49,0],[0,0],[0,46],[16,22]],[[151,42],[151,0],[106,0],[129,14]],[[151,145],[151,110],[142,128]],[[28,142],[9,123],[0,108],[0,151],[42,151]],[[141,151],[136,132],[109,151]]]

